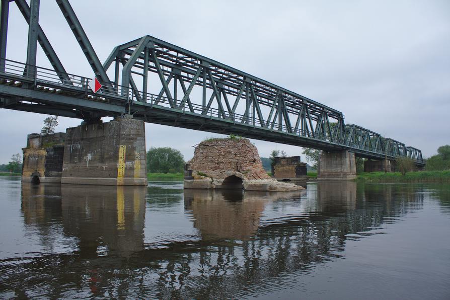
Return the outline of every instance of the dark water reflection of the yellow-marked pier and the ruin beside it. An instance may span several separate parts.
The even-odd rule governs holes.
[[[64,235],[78,239],[83,258],[128,257],[143,249],[145,193],[145,187],[23,184],[22,211],[39,228],[59,221]]]

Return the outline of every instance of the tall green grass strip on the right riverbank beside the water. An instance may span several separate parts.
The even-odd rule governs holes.
[[[356,180],[376,182],[450,183],[450,171],[408,172],[404,176],[400,172],[358,173]]]

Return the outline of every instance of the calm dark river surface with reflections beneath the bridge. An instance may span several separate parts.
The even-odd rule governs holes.
[[[1,298],[450,298],[450,187],[0,178]]]

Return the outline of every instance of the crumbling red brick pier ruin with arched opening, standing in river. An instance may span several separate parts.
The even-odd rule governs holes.
[[[293,191],[304,188],[278,182],[263,169],[258,149],[246,138],[213,138],[196,145],[185,167],[186,189]]]

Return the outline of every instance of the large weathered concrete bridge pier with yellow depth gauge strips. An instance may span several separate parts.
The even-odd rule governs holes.
[[[67,128],[61,183],[147,185],[144,122],[126,115]]]

